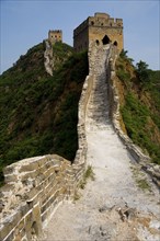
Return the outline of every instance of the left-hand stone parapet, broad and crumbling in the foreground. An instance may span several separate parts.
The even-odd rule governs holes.
[[[91,53],[89,50],[89,62]],[[79,102],[79,149],[73,164],[59,156],[47,154],[24,159],[4,169],[5,185],[0,190],[0,240],[37,240],[56,208],[73,198],[87,168],[85,112],[92,83],[89,74]]]

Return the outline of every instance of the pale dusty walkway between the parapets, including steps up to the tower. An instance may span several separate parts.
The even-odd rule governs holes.
[[[94,88],[85,119],[87,160],[95,180],[79,191],[78,200],[58,208],[45,230],[46,241],[160,239],[159,193],[138,170],[108,119],[106,56],[107,49],[95,56]]]

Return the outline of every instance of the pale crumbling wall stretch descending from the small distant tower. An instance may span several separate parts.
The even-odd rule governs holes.
[[[54,69],[54,59],[53,59],[53,46],[49,41],[45,41],[45,53],[44,53],[44,66],[46,69],[46,72],[53,76],[53,69]]]

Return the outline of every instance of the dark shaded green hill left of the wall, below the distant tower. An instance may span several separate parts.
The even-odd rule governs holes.
[[[53,77],[38,44],[0,76],[0,170],[18,160],[57,153],[72,161],[78,147],[78,102],[88,74],[87,53],[53,46]]]

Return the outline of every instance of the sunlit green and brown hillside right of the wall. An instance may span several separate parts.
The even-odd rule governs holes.
[[[116,62],[121,112],[128,136],[160,164],[160,71],[123,51]]]

